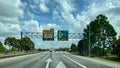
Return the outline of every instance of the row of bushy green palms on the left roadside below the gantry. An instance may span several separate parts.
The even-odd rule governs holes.
[[[34,43],[29,37],[16,39],[15,37],[7,37],[4,40],[4,45],[9,46],[9,51],[26,51],[34,49]],[[7,49],[0,42],[0,52],[5,52]]]

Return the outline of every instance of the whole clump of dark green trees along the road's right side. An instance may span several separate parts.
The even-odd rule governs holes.
[[[116,38],[117,32],[107,19],[105,15],[100,14],[91,21],[83,30],[83,38],[77,46],[72,44],[71,50],[77,50],[85,56],[90,52],[91,56],[116,54],[120,57],[120,38]]]

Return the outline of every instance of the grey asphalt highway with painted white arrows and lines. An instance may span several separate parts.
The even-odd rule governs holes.
[[[37,54],[0,59],[0,68],[112,68],[66,52]]]

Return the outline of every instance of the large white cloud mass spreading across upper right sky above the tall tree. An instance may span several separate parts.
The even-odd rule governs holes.
[[[92,1],[89,2],[90,4],[88,7],[86,7],[85,10],[82,10],[81,13],[76,13],[74,15],[74,11],[76,11],[78,8],[76,8],[74,1],[72,0],[61,0],[56,1],[59,6],[56,6],[56,8],[53,11],[53,19],[54,20],[63,20],[64,22],[68,23],[69,29],[72,32],[81,32],[84,28],[86,28],[86,25],[90,23],[90,21],[94,20],[97,15],[104,14],[108,17],[108,20],[110,21],[110,24],[112,24],[118,33],[120,35],[120,1],[116,0],[105,0],[105,1]],[[62,21],[62,22],[63,22]]]

